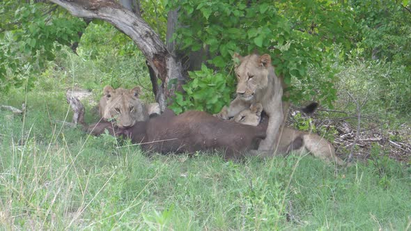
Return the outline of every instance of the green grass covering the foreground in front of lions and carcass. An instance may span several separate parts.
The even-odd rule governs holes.
[[[396,161],[148,155],[54,124],[61,102],[33,92],[24,120],[0,111],[0,230],[410,228],[411,169]]]

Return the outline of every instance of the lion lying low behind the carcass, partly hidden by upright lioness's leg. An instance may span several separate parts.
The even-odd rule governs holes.
[[[261,122],[262,111],[261,104],[253,104],[249,109],[234,116],[233,120],[242,125],[258,126]],[[336,156],[334,147],[325,138],[317,134],[291,129],[285,125],[279,131],[279,141],[277,145],[274,145],[274,148],[278,154],[288,154],[291,151],[298,154],[311,152],[314,157],[327,162],[334,162],[341,166],[346,165],[345,161]]]

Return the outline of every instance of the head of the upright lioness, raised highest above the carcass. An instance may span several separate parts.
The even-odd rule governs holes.
[[[235,53],[235,75],[237,77],[237,95],[245,101],[253,99],[256,90],[267,87],[269,68],[272,68],[269,54],[258,56],[250,54],[242,57]]]

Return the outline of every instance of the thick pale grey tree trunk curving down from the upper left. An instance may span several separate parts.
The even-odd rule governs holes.
[[[160,37],[139,17],[114,0],[49,0],[68,10],[76,17],[102,19],[126,35],[139,47],[146,56],[162,85],[157,89],[156,99],[160,109],[166,108],[166,98],[173,95],[179,79],[183,78],[183,68],[175,56],[170,54]],[[176,81],[173,81],[176,79]]]

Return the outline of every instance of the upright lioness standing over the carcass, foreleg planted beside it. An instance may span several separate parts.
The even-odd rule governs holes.
[[[234,60],[240,61],[235,66],[237,76],[237,96],[226,109],[227,117],[233,117],[249,109],[251,104],[263,104],[269,117],[266,138],[258,146],[259,151],[270,152],[277,140],[279,128],[284,120],[286,109],[283,109],[283,87],[281,79],[274,73],[269,54],[258,56],[250,54],[242,57],[234,54]],[[288,106],[288,104],[286,104]],[[223,109],[224,110],[224,109]]]

